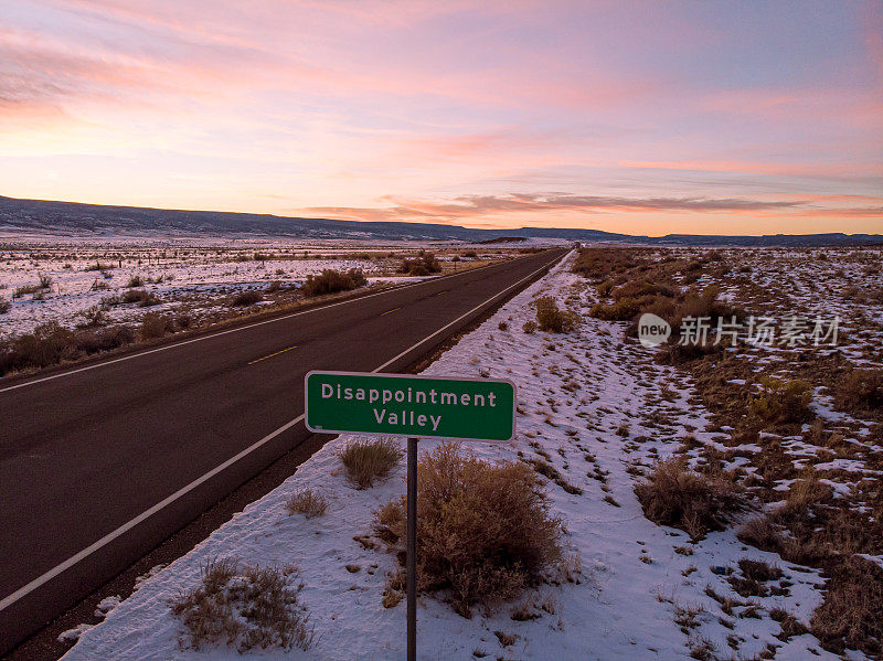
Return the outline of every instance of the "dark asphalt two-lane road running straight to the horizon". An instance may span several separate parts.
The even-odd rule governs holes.
[[[302,443],[308,371],[402,370],[564,254],[0,380],[0,653]]]

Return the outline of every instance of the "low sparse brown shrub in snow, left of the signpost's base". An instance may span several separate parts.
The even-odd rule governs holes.
[[[235,558],[209,561],[200,585],[172,599],[190,647],[222,643],[244,652],[255,647],[307,650],[313,631],[298,604],[297,569],[240,566]]]

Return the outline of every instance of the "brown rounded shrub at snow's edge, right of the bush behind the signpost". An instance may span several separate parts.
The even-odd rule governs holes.
[[[693,539],[723,530],[734,513],[747,508],[743,489],[730,473],[693,472],[679,459],[657,462],[635,493],[650,521],[680,527]]]

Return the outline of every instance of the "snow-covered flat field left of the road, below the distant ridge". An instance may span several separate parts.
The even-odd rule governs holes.
[[[95,308],[103,309],[106,323],[137,323],[147,309],[137,302],[109,302],[131,289],[155,295],[158,301],[149,311],[185,312],[192,326],[242,312],[230,302],[243,290],[267,292],[273,287],[257,307],[291,302],[307,276],[323,269],[361,268],[372,285],[395,284],[403,279],[395,273],[401,260],[414,257],[421,247],[349,241],[9,242],[0,245],[0,340],[47,321],[74,329],[86,323],[85,312]],[[464,268],[511,258],[518,247],[522,246],[439,243],[430,249],[450,270],[455,255]],[[41,279],[47,286],[39,287]],[[4,301],[10,303],[6,312]]]

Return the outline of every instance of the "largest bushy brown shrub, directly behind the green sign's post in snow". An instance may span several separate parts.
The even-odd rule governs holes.
[[[444,444],[417,468],[418,585],[449,590],[464,617],[471,605],[515,597],[561,556],[562,524],[523,463],[493,466]],[[380,509],[380,535],[403,542],[405,499]]]

